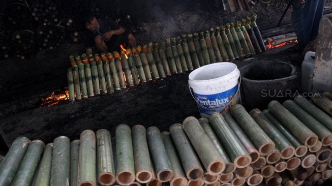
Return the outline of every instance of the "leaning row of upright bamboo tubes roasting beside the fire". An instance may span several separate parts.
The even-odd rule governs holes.
[[[71,55],[69,100],[81,100],[186,73],[219,61],[253,56],[266,50],[256,24],[257,15],[161,43],[123,49],[121,53]]]

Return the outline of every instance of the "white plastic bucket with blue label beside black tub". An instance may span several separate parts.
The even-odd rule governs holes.
[[[209,64],[189,74],[189,89],[201,117],[227,112],[231,105],[240,103],[239,77],[237,66],[229,62]]]

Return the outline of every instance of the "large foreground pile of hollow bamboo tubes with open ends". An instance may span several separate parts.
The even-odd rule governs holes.
[[[18,137],[0,185],[316,185],[332,181],[332,118],[304,97],[189,116],[169,132],[121,124],[53,143]],[[114,139],[114,138],[113,138]]]

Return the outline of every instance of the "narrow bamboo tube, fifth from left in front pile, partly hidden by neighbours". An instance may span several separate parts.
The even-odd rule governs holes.
[[[78,154],[79,140],[76,139],[70,143],[70,185],[77,185]]]

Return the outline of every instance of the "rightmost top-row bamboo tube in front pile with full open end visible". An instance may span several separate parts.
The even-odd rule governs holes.
[[[278,101],[271,101],[268,110],[280,120],[284,126],[307,147],[314,146],[318,137],[307,126],[298,120],[292,113],[283,107]]]

